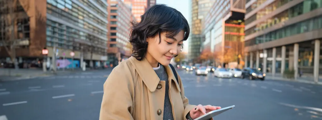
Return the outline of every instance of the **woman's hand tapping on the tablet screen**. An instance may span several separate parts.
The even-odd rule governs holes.
[[[190,117],[192,119],[196,119],[210,111],[216,110],[216,109],[220,109],[221,107],[218,106],[212,106],[212,105],[198,105],[196,108],[193,108],[192,110],[190,110]]]

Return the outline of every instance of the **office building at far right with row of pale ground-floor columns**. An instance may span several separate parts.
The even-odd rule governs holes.
[[[322,0],[251,0],[246,3],[247,67],[321,74]]]

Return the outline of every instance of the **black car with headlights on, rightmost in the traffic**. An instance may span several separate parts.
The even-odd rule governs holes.
[[[260,79],[260,80],[265,80],[265,73],[262,73],[261,71],[253,68],[244,68],[242,70],[242,76],[241,78],[244,79],[248,77],[250,80],[253,79]]]

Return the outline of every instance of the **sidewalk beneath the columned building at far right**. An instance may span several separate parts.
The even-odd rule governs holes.
[[[322,85],[322,76],[319,77],[319,80],[317,83],[314,82],[313,75],[302,75],[301,77],[298,76],[297,79],[288,79],[288,78],[284,78],[283,75],[281,75],[280,73],[276,73],[275,76],[272,76],[271,73],[266,73],[266,78],[272,79],[272,80],[284,80],[284,81]]]

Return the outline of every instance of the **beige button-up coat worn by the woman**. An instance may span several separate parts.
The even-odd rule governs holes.
[[[165,68],[174,119],[185,120],[196,106],[189,105],[180,76],[177,83],[170,66]],[[113,69],[104,84],[99,120],[163,120],[165,88],[166,82],[160,81],[146,59],[130,57]]]

